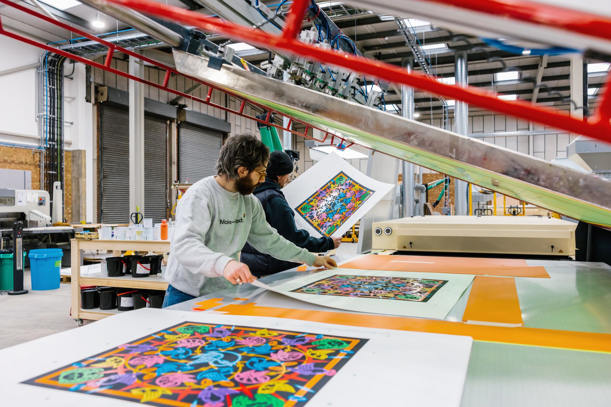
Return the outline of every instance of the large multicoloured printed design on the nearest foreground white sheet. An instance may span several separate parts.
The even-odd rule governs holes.
[[[156,406],[306,406],[367,340],[183,322],[24,383]]]

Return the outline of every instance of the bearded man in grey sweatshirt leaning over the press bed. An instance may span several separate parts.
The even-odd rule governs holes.
[[[238,261],[246,242],[280,260],[337,267],[329,256],[297,247],[266,222],[252,192],[265,180],[268,160],[269,149],[253,134],[232,135],[221,148],[218,175],[191,185],[178,201],[164,308],[232,284],[252,283],[255,277]]]

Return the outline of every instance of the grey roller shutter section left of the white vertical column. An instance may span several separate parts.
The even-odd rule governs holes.
[[[100,115],[100,220],[130,220],[130,117],[102,105]]]

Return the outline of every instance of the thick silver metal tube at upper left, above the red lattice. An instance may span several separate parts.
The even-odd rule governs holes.
[[[82,2],[90,5],[94,9],[100,10],[104,14],[113,16],[117,20],[123,21],[123,23],[129,24],[145,32],[153,38],[157,38],[159,41],[163,41],[167,45],[178,48],[185,42],[182,35],[134,10],[126,9],[120,5],[110,4],[101,0],[82,0]]]

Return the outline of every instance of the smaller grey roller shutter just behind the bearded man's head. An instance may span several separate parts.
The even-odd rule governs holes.
[[[197,182],[216,175],[216,162],[221,153],[222,133],[186,123],[178,126],[178,179]]]

